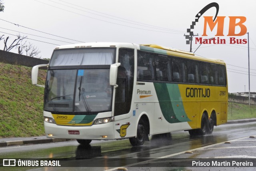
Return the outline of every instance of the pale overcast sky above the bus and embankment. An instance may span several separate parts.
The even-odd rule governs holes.
[[[80,42],[158,44],[189,51],[184,34],[196,14],[211,2],[220,6],[218,16],[226,16],[225,36],[220,37],[226,39],[226,44],[202,44],[198,48],[194,39],[192,51],[198,48],[195,54],[226,62],[229,92],[248,91],[248,44],[230,44],[226,36],[228,16],[245,16],[244,25],[250,36],[250,91],[256,92],[256,10],[251,0],[4,0],[0,35],[14,40],[14,35],[20,32],[39,48],[42,58],[50,58],[57,45]],[[211,8],[203,16],[215,16],[215,13],[216,9]],[[194,34],[202,35],[203,27],[202,17],[196,23]],[[214,37],[216,28],[212,32],[208,29],[207,34],[204,38]],[[247,39],[247,36],[236,38]],[[0,49],[3,48],[1,40]]]

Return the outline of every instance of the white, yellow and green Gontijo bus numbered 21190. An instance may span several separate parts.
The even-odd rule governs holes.
[[[47,66],[45,85],[38,68]],[[228,84],[222,60],[154,44],[94,42],[58,46],[49,64],[32,68],[44,87],[48,138],[129,139],[188,131],[212,133],[227,122]]]

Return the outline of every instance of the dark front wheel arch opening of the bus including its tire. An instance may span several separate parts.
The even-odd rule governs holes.
[[[143,145],[145,141],[149,141],[148,135],[150,132],[149,119],[146,114],[143,114],[137,125],[136,137],[129,138],[132,146]]]

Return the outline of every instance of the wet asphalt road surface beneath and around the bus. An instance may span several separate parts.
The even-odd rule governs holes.
[[[172,169],[208,171],[222,170],[223,168],[223,170],[234,170],[234,168],[231,169],[231,167],[171,168],[169,164],[170,160],[167,160],[166,162],[161,160],[160,164],[156,161],[160,161],[158,158],[193,159],[220,156],[227,158],[228,155],[233,155],[238,158],[246,158],[246,156],[255,157],[256,147],[254,146],[256,146],[256,138],[248,138],[251,135],[256,135],[256,122],[219,125],[214,127],[214,131],[211,135],[201,137],[190,137],[186,131],[178,131],[171,134],[152,136],[150,141],[146,142],[142,147],[132,147],[129,143],[129,140],[92,141],[89,147],[83,147],[76,141],[1,147],[0,158],[65,158],[65,161],[62,162],[62,167],[48,167],[47,170],[84,170],[84,168],[82,168],[84,166],[87,167],[86,171],[108,169],[116,170],[121,166],[126,166],[126,168],[131,171],[168,171]],[[240,139],[243,137],[246,138]],[[228,144],[229,146],[227,146],[227,144],[223,146],[223,142],[226,141],[231,141],[232,143]],[[233,148],[232,145],[235,143],[236,148]],[[211,145],[213,145],[213,147]],[[189,151],[191,153],[184,154],[185,151]],[[255,153],[252,151],[255,151]],[[152,160],[152,162],[150,162],[150,160]],[[142,164],[134,164],[137,162],[142,162]],[[157,163],[158,165],[154,165],[154,163]],[[72,169],[70,166],[80,167]],[[65,169],[63,167],[65,167]],[[239,169],[239,167],[236,168]],[[26,167],[12,169],[29,170],[32,168]],[[32,170],[34,169],[45,170],[46,168],[33,168]],[[254,168],[249,167],[245,170],[251,169]]]

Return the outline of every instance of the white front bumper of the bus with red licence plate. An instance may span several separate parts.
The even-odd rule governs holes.
[[[60,126],[54,123],[44,122],[46,137],[64,139],[114,139],[113,122],[92,126]]]

